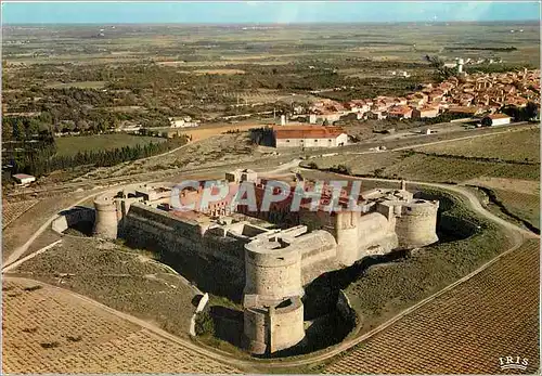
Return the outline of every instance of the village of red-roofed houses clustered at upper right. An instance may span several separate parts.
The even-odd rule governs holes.
[[[460,66],[461,67],[461,66]],[[511,117],[501,115],[505,106],[522,108],[540,101],[540,70],[524,69],[499,74],[460,74],[438,85],[423,85],[423,89],[405,96],[376,96],[339,103],[322,100],[310,108],[310,124],[333,124],[348,114],[358,119],[435,118],[441,114],[488,115],[491,119]],[[502,120],[501,120],[502,122]]]

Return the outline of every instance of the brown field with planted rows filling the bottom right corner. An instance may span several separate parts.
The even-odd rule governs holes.
[[[327,365],[328,374],[499,374],[499,356],[539,364],[539,242],[528,241],[468,282]]]

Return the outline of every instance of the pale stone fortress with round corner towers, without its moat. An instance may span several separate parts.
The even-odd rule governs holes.
[[[261,200],[268,180],[251,170],[236,170],[227,173],[221,184],[231,187],[241,182],[255,184],[256,198]],[[201,197],[201,183],[198,190],[181,191],[181,202]],[[414,198],[403,183],[397,190],[362,192],[358,197],[361,211],[324,210],[331,197],[325,190],[315,211],[302,202],[298,212],[288,212],[297,194],[294,190],[266,212],[241,206],[233,211],[231,196],[205,210],[179,211],[170,206],[172,187],[171,183],[145,184],[98,196],[94,234],[138,238],[173,255],[206,257],[228,265],[244,285],[244,340],[253,354],[271,354],[302,343],[304,287],[323,273],[366,256],[438,241],[439,203]],[[347,193],[341,192],[341,198]],[[255,219],[289,226],[261,225]]]

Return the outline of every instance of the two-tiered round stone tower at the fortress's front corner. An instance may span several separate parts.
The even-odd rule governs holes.
[[[302,341],[301,250],[280,235],[254,239],[245,245],[245,273],[244,339],[248,351],[268,354]]]

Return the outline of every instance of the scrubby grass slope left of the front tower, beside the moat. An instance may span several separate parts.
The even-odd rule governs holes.
[[[10,272],[62,286],[116,310],[188,337],[197,295],[146,254],[94,238],[65,236],[63,243]]]

